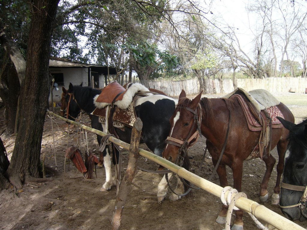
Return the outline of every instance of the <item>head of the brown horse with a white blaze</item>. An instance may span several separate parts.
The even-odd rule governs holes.
[[[196,143],[199,137],[201,132],[198,130],[201,122],[199,104],[201,94],[190,100],[186,97],[185,91],[181,91],[178,104],[169,119],[171,128],[162,153],[162,157],[171,162],[178,164],[181,159],[185,158],[187,148]],[[178,157],[178,154],[181,157]]]

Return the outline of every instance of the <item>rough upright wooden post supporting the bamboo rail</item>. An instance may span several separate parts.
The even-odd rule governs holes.
[[[122,210],[124,209],[124,205],[126,203],[127,196],[130,192],[130,185],[134,176],[137,173],[138,166],[138,146],[140,144],[141,131],[143,127],[143,122],[140,118],[137,118],[134,122],[134,126],[132,128],[131,133],[131,142],[129,148],[129,161],[127,170],[125,173],[125,177],[122,180],[122,183],[119,188],[119,193],[116,197],[115,202],[115,210],[111,220],[111,229],[117,230],[120,227],[120,222],[122,220]]]

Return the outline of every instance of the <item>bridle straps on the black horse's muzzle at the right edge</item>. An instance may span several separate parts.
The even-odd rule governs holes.
[[[293,208],[298,206],[299,209],[301,210],[302,215],[305,218],[307,218],[307,186],[291,185],[284,182],[280,182],[280,187],[288,190],[303,192],[300,201],[296,205],[288,205],[288,206],[279,205],[279,207],[285,209],[285,208]],[[306,211],[306,213],[304,213],[304,210]]]

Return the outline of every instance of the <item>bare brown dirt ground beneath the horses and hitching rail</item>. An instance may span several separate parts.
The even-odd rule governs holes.
[[[205,95],[204,95],[205,96]],[[218,97],[221,95],[206,95]],[[296,123],[307,117],[307,94],[283,93],[275,96],[286,104],[295,116]],[[191,98],[193,95],[190,96]],[[0,111],[1,125],[5,125],[3,108]],[[88,121],[84,116],[82,121]],[[104,168],[97,168],[97,179],[85,180],[81,173],[70,164],[68,160],[64,165],[64,153],[67,146],[80,146],[77,135],[68,132],[68,125],[62,120],[53,120],[53,133],[51,119],[47,116],[42,140],[41,160],[45,155],[45,165],[54,169],[48,172],[50,181],[44,183],[28,184],[18,191],[14,189],[0,193],[0,229],[1,230],[81,230],[81,229],[111,229],[111,218],[115,208],[116,188],[107,192],[99,189],[105,181]],[[86,125],[86,124],[85,124]],[[88,124],[90,125],[90,124]],[[72,126],[71,126],[72,130]],[[55,145],[53,145],[53,137]],[[87,132],[88,148],[98,154],[98,144],[95,135]],[[9,158],[14,148],[14,138],[3,139]],[[86,144],[82,141],[81,151],[86,151]],[[141,148],[146,148],[144,144]],[[197,172],[198,165],[204,154],[205,138],[199,139],[197,144],[189,149],[192,163],[192,172]],[[55,150],[55,153],[54,153]],[[128,158],[128,151],[122,151]],[[272,151],[277,156],[276,148]],[[123,158],[122,178],[127,166],[127,159]],[[140,156],[138,166],[144,169],[155,170],[158,165]],[[55,170],[56,169],[56,170]],[[64,171],[65,169],[65,171]],[[213,165],[207,153],[200,176],[209,178]],[[265,165],[260,159],[253,159],[244,163],[243,192],[247,197],[260,203],[258,192]],[[232,174],[228,171],[229,183],[232,185]],[[273,193],[276,169],[274,169],[269,182],[269,193]],[[193,190],[190,197],[183,197],[178,201],[168,199],[170,193],[160,204],[157,203],[157,185],[161,179],[160,174],[153,174],[139,170],[131,186],[126,205],[122,213],[121,230],[141,229],[223,229],[223,224],[217,224],[215,219],[221,208],[219,197],[204,190]],[[212,182],[219,184],[215,175]],[[274,212],[281,214],[278,206],[271,205],[270,200],[261,203]],[[247,213],[244,214],[244,229],[258,229]],[[269,229],[275,229],[264,221],[262,224]],[[306,222],[296,222],[307,228]]]

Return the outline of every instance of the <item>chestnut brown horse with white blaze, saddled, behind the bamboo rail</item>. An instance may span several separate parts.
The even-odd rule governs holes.
[[[267,92],[267,91],[266,91]],[[267,92],[268,93],[268,92]],[[182,90],[179,102],[176,105],[173,116],[170,118],[171,131],[167,138],[167,145],[162,153],[165,159],[178,162],[185,156],[179,152],[186,150],[198,138],[198,129],[206,137],[206,145],[212,155],[212,163],[217,165],[223,150],[217,174],[222,187],[228,186],[226,165],[233,173],[234,188],[241,192],[243,161],[248,159],[253,150],[260,143],[259,137],[262,131],[251,131],[248,128],[246,117],[237,98],[201,98],[201,93],[194,99],[186,97]],[[281,102],[276,100],[276,105],[283,117],[294,122],[293,114]],[[278,104],[279,103],[279,104]],[[260,185],[261,201],[268,198],[267,184],[276,160],[269,154],[269,150],[277,146],[278,165],[277,181],[271,201],[278,204],[280,191],[280,178],[283,169],[283,155],[287,148],[287,136],[289,131],[281,124],[280,128],[272,128],[270,144],[263,148],[263,161],[266,164],[266,172]],[[224,147],[224,148],[223,148]],[[259,147],[260,148],[260,147]],[[185,151],[183,151],[185,152]],[[179,156],[179,157],[178,157]],[[255,157],[258,157],[257,154]],[[262,156],[262,155],[261,155]],[[178,157],[178,159],[177,159]],[[236,219],[232,230],[243,229],[243,211],[236,211]],[[216,222],[223,224],[226,221],[227,205],[222,206]]]

